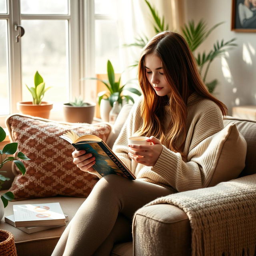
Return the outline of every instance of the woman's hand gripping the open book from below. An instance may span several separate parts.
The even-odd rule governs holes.
[[[86,154],[85,150],[74,150],[72,152],[73,162],[83,172],[89,172],[101,178],[98,172],[92,168],[95,164],[95,157],[92,154]]]

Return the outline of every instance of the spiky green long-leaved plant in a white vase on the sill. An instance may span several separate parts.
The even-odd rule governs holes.
[[[100,105],[100,116],[104,122],[108,122],[109,112],[112,109],[113,103],[115,101],[118,101],[118,103],[121,105],[123,100],[126,102],[129,102],[129,100],[131,100],[134,103],[134,99],[132,98],[132,96],[125,94],[126,90],[134,94],[137,94],[138,96],[141,95],[139,90],[131,87],[125,87],[126,84],[128,84],[128,82],[122,85],[121,76],[118,79],[118,81],[116,81],[114,68],[110,60],[108,60],[107,62],[107,73],[108,80],[102,80],[100,78],[90,78],[99,80],[100,82],[105,84],[107,89],[105,91],[99,92],[97,97],[98,104]]]

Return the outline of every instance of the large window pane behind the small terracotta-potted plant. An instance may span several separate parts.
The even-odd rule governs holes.
[[[34,86],[36,71],[44,78],[46,87],[44,101],[68,100],[68,21],[22,20],[25,34],[22,37],[22,100],[31,101],[32,96],[25,84]]]

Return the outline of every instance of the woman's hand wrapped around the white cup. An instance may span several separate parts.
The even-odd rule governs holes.
[[[128,155],[132,160],[139,164],[154,166],[162,152],[163,145],[160,140],[154,136],[151,136],[147,141],[152,142],[152,145],[128,145]]]

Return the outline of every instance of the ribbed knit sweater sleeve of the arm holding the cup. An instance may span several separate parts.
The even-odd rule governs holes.
[[[159,176],[166,184],[178,192],[206,187],[210,182],[210,172],[214,172],[207,164],[210,155],[204,154],[204,148],[200,142],[223,129],[222,113],[213,102],[208,102],[207,110],[198,107],[188,129],[184,152],[188,162],[182,160],[180,153],[166,148],[162,152],[156,164],[140,170],[137,178],[159,180]],[[201,108],[201,109],[200,109]],[[155,177],[154,177],[155,176]],[[146,179],[145,179],[146,180]]]

